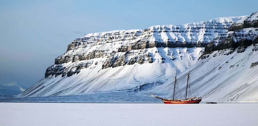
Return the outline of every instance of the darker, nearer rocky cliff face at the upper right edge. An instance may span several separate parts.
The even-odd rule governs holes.
[[[227,52],[224,54],[228,55],[236,48],[238,53],[242,53],[251,44],[254,45],[253,50],[257,50],[257,35],[258,11],[233,23],[228,32],[219,35],[205,47],[205,54],[224,50]]]

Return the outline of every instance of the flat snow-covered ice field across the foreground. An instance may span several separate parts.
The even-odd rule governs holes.
[[[0,125],[258,125],[258,103],[0,102]]]

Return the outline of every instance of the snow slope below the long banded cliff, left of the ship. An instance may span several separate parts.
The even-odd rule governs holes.
[[[157,49],[159,52],[157,52]],[[173,49],[173,55],[178,60],[171,60],[167,50]],[[20,97],[39,97],[55,95],[83,94],[97,91],[136,90],[140,85],[163,84],[174,73],[174,67],[178,72],[183,72],[187,63],[194,64],[200,57],[203,48],[151,48],[147,52],[153,52],[154,62],[124,65],[101,69],[102,64],[92,64],[81,72],[70,77],[49,76],[40,80],[27,89]],[[160,55],[165,57],[165,63],[160,63]],[[180,59],[182,57],[182,60]],[[102,62],[102,58],[93,59],[94,62]]]

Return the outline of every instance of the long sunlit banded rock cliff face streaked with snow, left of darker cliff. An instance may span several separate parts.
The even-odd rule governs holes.
[[[144,30],[86,34],[68,45],[66,53],[56,58],[55,64],[47,68],[45,77],[70,77],[91,64],[102,64],[102,69],[105,69],[126,64],[152,63],[155,53],[147,52],[148,48],[206,47],[214,38],[227,32],[232,23],[243,17],[245,16],[217,18],[182,25],[157,25]],[[89,62],[96,58],[104,59],[101,62]],[[172,54],[169,59],[176,58]],[[161,63],[164,63],[163,60]]]

